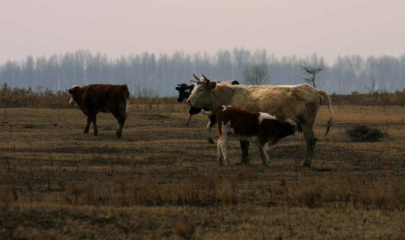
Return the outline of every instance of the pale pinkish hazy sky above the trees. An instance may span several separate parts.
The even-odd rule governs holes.
[[[277,58],[405,53],[403,0],[0,0],[0,64],[79,49],[110,58],[244,47]]]

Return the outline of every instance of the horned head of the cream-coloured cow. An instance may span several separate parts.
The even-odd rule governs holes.
[[[210,104],[214,101],[212,91],[217,88],[217,82],[210,81],[204,74],[201,78],[195,75],[194,77],[198,81],[191,81],[195,82],[195,84],[190,97],[187,99],[187,104],[192,107],[210,107]]]

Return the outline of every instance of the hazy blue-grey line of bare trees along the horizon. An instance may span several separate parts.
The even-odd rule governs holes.
[[[325,60],[316,54],[306,59],[276,58],[266,50],[250,51],[244,48],[219,50],[216,54],[186,54],[177,51],[169,56],[144,52],[137,55],[108,58],[100,52],[89,51],[54,54],[50,57],[32,56],[21,62],[8,61],[0,66],[0,84],[12,88],[36,88],[50,91],[66,91],[74,85],[127,84],[136,96],[175,96],[177,84],[190,84],[192,73],[204,73],[215,81],[236,80],[244,84],[242,71],[246,66],[266,64],[269,70],[268,85],[297,85],[305,83],[299,64],[322,65]],[[334,63],[326,63],[329,69],[321,71],[316,87],[330,94],[368,93],[368,89],[395,92],[405,88],[405,54],[392,56],[359,55],[338,56]]]

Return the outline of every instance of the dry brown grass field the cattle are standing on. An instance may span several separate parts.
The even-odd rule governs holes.
[[[404,239],[405,107],[333,110],[311,168],[299,133],[267,168],[255,145],[237,164],[237,141],[219,166],[207,116],[184,127],[184,103],[133,104],[119,140],[111,114],[96,137],[78,109],[0,109],[0,239]],[[388,136],[353,142],[356,124]]]

